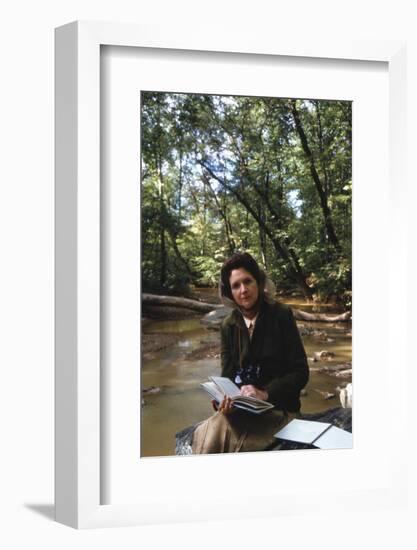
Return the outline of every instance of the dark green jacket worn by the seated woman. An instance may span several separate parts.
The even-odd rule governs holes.
[[[221,343],[222,376],[234,381],[240,364],[256,363],[259,387],[268,392],[268,401],[280,410],[300,410],[308,363],[289,307],[262,302],[252,340],[240,311],[234,310],[222,323]]]

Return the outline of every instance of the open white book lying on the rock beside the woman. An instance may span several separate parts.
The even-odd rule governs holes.
[[[328,422],[291,420],[274,437],[297,443],[308,443],[319,449],[351,449],[352,434]]]

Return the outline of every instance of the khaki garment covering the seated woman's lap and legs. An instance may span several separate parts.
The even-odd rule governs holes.
[[[259,416],[242,410],[216,412],[195,429],[193,454],[263,451],[276,441],[274,434],[298,416],[276,410]]]

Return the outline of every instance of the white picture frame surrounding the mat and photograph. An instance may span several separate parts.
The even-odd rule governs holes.
[[[294,41],[245,32],[214,36],[198,29],[194,35],[177,36],[174,29],[112,23],[75,22],[56,30],[56,519],[77,527],[103,527],[242,517],[244,506],[230,508],[228,499],[213,507],[200,503],[191,512],[187,495],[181,503],[167,489],[165,498],[145,495],[148,506],[101,504],[100,399],[100,48],[102,45],[229,52],[295,58],[379,61],[388,64],[390,122],[390,191],[392,193],[392,243],[402,237],[401,206],[396,200],[405,187],[402,166],[405,152],[405,44],[397,41]],[[400,266],[389,276],[390,316],[401,318],[404,304],[392,299],[394,277],[405,281],[404,251],[390,246],[392,264]],[[139,307],[139,304],[138,304]],[[139,313],[138,313],[139,314]],[[390,326],[399,333],[398,327]],[[398,339],[396,339],[398,341]],[[405,346],[404,346],[405,348]],[[391,350],[393,353],[393,350]],[[405,395],[406,358],[398,351],[395,385]],[[404,403],[404,400],[401,401]],[[399,405],[395,425],[397,440],[404,441],[405,405]],[[379,489],[336,498],[361,506],[396,505],[403,502],[406,474],[399,467],[406,458],[402,446],[389,457],[386,483]],[[395,466],[394,466],[395,464]],[[325,495],[322,495],[322,500]],[[332,498],[335,498],[333,495]],[[308,491],[286,494],[285,506],[271,506],[268,499],[255,515],[305,511],[318,495]],[[182,502],[183,501],[183,502]],[[268,504],[268,506],[267,506]],[[161,511],[162,510],[162,511]]]

